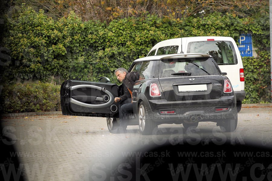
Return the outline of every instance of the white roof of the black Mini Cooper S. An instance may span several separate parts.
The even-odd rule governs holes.
[[[139,59],[134,60],[134,62],[174,59],[174,58],[199,58],[199,57],[212,58],[212,56],[210,56],[208,54],[202,54],[202,53],[176,53],[176,54],[154,55],[154,56],[149,56],[149,57],[143,57],[143,58],[139,58]]]

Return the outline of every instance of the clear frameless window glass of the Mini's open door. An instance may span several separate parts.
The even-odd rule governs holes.
[[[106,79],[102,77],[106,77]],[[108,65],[106,63],[95,62],[72,62],[69,79],[88,82],[116,83]]]

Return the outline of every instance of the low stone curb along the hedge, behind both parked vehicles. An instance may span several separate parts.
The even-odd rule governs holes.
[[[272,107],[272,104],[242,104],[242,108],[248,107]],[[36,115],[62,115],[61,111],[52,111],[52,112],[21,112],[21,113],[9,113],[2,114],[1,117],[22,117],[22,116],[36,116]]]

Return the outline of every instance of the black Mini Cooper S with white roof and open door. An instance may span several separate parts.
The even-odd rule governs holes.
[[[63,82],[61,108],[63,115],[107,117],[111,132],[118,126],[118,102],[114,102],[118,86],[102,67],[91,66],[91,81]],[[142,78],[132,91],[134,114],[129,123],[139,125],[142,134],[152,134],[159,124],[183,124],[187,129],[196,128],[200,121],[216,122],[222,131],[235,131],[237,108],[232,85],[210,55],[144,57],[132,63],[131,71],[138,71]]]

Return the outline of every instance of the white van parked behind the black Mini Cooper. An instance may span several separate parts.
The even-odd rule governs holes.
[[[227,73],[237,101],[237,111],[241,110],[244,91],[244,67],[238,46],[232,37],[183,37],[157,43],[148,56],[172,53],[204,53],[211,55],[221,69]]]

